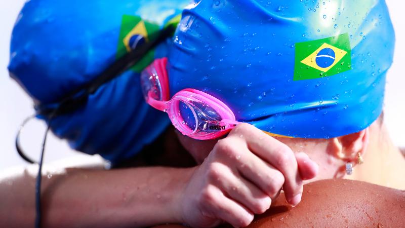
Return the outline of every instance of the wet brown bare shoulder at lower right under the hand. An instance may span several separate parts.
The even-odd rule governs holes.
[[[405,224],[405,192],[360,181],[330,179],[304,186],[301,203],[279,197],[250,227],[400,227]]]

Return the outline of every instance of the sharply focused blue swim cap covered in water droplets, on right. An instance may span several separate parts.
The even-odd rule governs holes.
[[[198,89],[261,130],[329,138],[380,115],[394,31],[378,0],[203,0],[174,42],[172,95]]]

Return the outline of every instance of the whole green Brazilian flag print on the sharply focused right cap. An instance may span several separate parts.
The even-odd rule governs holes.
[[[348,33],[295,44],[294,81],[329,77],[350,69]]]

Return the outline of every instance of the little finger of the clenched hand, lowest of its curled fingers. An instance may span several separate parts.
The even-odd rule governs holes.
[[[219,188],[211,185],[205,191],[203,198],[206,202],[204,211],[222,219],[234,227],[248,226],[254,218],[252,212],[227,198]]]

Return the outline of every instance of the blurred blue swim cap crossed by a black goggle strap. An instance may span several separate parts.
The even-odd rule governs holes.
[[[36,104],[51,106],[93,80],[117,57],[154,39],[189,2],[28,1],[13,30],[10,74]],[[103,85],[84,107],[53,120],[53,132],[74,149],[112,162],[152,142],[170,121],[145,103],[138,71],[153,58],[166,56],[169,43]]]

